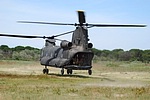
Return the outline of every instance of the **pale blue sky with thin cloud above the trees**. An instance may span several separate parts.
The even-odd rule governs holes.
[[[96,24],[145,24],[146,28],[90,28],[94,48],[150,49],[150,0],[0,0],[0,33],[52,36],[75,30],[74,26],[22,24],[17,21],[78,23],[77,10],[86,22]],[[59,37],[71,41],[72,34]],[[0,37],[0,45],[42,48],[44,39]],[[59,45],[59,42],[57,42]]]

